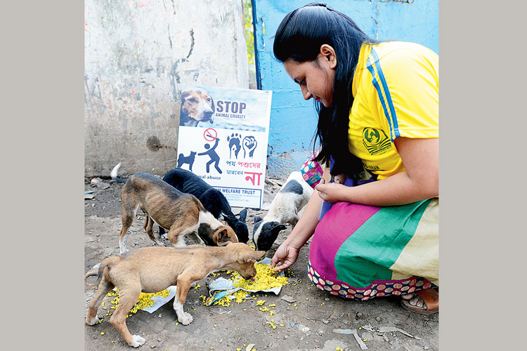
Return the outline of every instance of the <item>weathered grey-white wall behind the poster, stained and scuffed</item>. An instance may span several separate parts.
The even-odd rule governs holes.
[[[85,175],[176,165],[181,84],[248,88],[241,0],[86,0]]]

